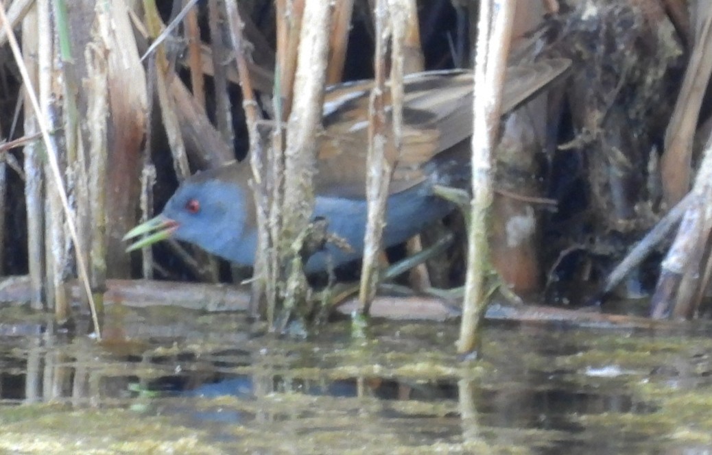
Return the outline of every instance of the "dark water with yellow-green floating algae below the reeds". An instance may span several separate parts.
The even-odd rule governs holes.
[[[105,341],[0,312],[0,452],[707,454],[711,326],[333,323],[306,341],[241,314],[114,307]]]

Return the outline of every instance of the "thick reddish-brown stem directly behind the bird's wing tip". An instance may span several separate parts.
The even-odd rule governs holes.
[[[530,32],[541,26],[544,14],[541,2],[516,1],[513,48],[531,46]],[[509,63],[525,63],[534,57],[533,53],[530,48],[520,55],[514,55],[513,51]],[[496,152],[498,188],[491,208],[491,260],[503,282],[516,293],[527,296],[540,289],[543,276],[540,210],[534,201],[526,199],[541,196],[538,157],[542,153],[553,156],[555,152],[554,141],[548,141],[551,136],[548,116],[539,114],[549,112],[548,106],[548,93],[543,93],[508,114]],[[547,144],[551,144],[549,149]],[[503,188],[506,188],[503,192],[498,191]]]

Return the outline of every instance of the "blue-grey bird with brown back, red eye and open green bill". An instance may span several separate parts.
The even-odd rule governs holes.
[[[501,111],[511,112],[567,72],[570,60],[550,59],[508,68]],[[316,137],[314,218],[323,218],[349,249],[327,243],[308,257],[314,273],[359,259],[367,217],[365,193],[369,96],[374,82],[345,82],[325,90],[323,128]],[[454,207],[433,187],[464,188],[470,181],[473,134],[473,74],[466,70],[414,73],[404,77],[401,149],[392,136],[387,109],[385,156],[392,178],[384,215],[383,245],[397,245],[443,218]],[[385,90],[387,99],[389,89]],[[236,264],[251,266],[257,247],[256,208],[248,160],[199,171],[181,183],[155,218],[133,228],[127,251],[169,237],[198,245]]]

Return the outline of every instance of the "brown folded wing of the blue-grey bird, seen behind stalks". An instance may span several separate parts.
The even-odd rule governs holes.
[[[509,112],[563,73],[568,60],[508,68],[502,112]],[[368,104],[372,81],[333,87],[325,93],[324,130],[318,135],[316,191],[320,195],[365,198]],[[394,146],[387,110],[386,157],[395,166],[390,193],[424,181],[422,166],[472,134],[472,74],[426,72],[404,80],[400,156]],[[386,92],[387,106],[390,105]]]

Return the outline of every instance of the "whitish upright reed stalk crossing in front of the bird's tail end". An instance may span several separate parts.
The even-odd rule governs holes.
[[[486,311],[489,264],[488,211],[493,199],[493,148],[501,112],[501,93],[514,16],[513,0],[483,0],[478,18],[472,135],[471,225],[459,353],[477,348]]]

